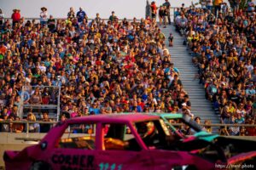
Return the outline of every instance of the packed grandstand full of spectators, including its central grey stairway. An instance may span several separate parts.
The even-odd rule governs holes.
[[[14,9],[1,23],[1,120],[182,112],[201,122],[254,124],[254,4],[236,12],[221,7],[216,15],[172,8],[163,17],[171,15],[175,26],[166,28],[150,10],[146,19],[123,20],[113,11],[102,20],[88,19],[83,8],[54,19],[42,8],[42,18],[29,20]],[[174,47],[168,47],[170,32]],[[7,125],[2,132],[19,131]],[[253,127],[226,130],[256,133]]]

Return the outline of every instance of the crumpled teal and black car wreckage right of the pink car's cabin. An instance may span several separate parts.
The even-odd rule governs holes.
[[[241,164],[250,164],[256,167],[256,142],[247,139],[234,139],[207,133],[203,127],[197,124],[190,116],[172,113],[144,113],[152,116],[160,116],[160,124],[165,124],[163,130],[171,133],[168,136],[168,144],[163,150],[189,151],[195,156],[207,158],[212,162],[231,162],[237,160]],[[174,123],[178,124],[178,127]],[[167,125],[167,126],[166,126]],[[185,135],[179,126],[190,128],[193,135]],[[158,135],[158,132],[155,132]],[[154,142],[154,141],[153,141]],[[249,146],[249,147],[248,147]]]

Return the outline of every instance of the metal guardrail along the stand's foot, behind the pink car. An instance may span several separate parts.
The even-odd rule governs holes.
[[[36,122],[29,122],[29,121],[1,121],[0,124],[8,124],[8,123],[19,123],[19,124],[26,124],[26,129],[21,132],[21,133],[29,133],[29,125],[33,123],[38,123],[38,124],[50,124],[51,127],[53,127],[57,122],[43,122],[43,121],[36,121]],[[181,127],[184,124],[183,123],[172,123],[174,127]],[[221,123],[216,123],[216,124],[200,124],[201,127],[256,127],[255,124],[221,124]],[[1,133],[1,132],[0,132]],[[6,132],[5,132],[6,133]],[[13,133],[13,132],[10,132]]]

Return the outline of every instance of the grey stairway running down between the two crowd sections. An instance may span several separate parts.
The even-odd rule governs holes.
[[[212,109],[212,104],[207,99],[205,99],[205,89],[199,80],[195,79],[195,74],[197,73],[197,68],[192,64],[191,56],[186,46],[183,45],[184,37],[175,31],[175,26],[166,26],[166,28],[161,29],[166,36],[166,47],[169,49],[171,54],[172,62],[174,66],[180,71],[179,78],[183,83],[183,88],[189,94],[189,99],[191,102],[191,112],[195,116],[201,117],[201,123],[206,119],[211,120],[212,123],[219,123],[219,116],[215,114]],[[168,37],[172,32],[173,35],[173,47],[169,47]],[[217,133],[218,127],[212,128],[212,133]]]

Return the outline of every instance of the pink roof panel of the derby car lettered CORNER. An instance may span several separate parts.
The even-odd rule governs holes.
[[[108,115],[93,115],[93,116],[82,116],[68,119],[67,123],[80,123],[80,122],[115,122],[115,123],[126,123],[126,122],[143,122],[159,119],[160,116],[146,115],[146,114],[108,114]]]

